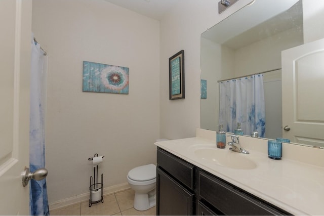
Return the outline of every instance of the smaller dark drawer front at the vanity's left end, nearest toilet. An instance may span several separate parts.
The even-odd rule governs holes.
[[[194,166],[163,149],[157,148],[157,166],[193,190]]]

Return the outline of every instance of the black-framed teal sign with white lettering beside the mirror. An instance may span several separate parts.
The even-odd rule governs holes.
[[[184,51],[169,58],[170,100],[184,98]]]

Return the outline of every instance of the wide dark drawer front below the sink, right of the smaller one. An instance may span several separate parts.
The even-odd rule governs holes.
[[[225,214],[285,214],[204,172],[199,172],[199,196]]]

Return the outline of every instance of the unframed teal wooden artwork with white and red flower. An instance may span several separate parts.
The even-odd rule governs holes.
[[[128,94],[129,68],[83,62],[83,92]]]

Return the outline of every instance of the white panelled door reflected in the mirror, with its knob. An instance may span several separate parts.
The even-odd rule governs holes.
[[[324,147],[324,39],[282,51],[281,66],[282,136]]]

